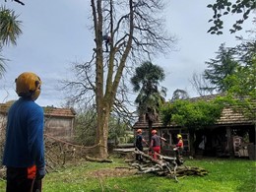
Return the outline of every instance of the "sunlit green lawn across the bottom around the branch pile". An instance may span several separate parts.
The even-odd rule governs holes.
[[[43,192],[255,192],[256,161],[253,160],[186,160],[185,165],[209,171],[206,176],[178,178],[154,174],[134,174],[123,160],[113,163],[78,162],[43,179]],[[0,180],[0,192],[5,191]]]

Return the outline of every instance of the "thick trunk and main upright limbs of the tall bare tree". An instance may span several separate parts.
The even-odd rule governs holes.
[[[120,58],[119,66],[117,67],[116,73],[114,75],[114,57],[118,50],[118,47],[113,48],[113,40],[111,43],[111,48],[109,52],[108,69],[106,75],[106,85],[105,93],[103,93],[104,88],[104,69],[103,69],[103,51],[102,51],[102,9],[101,0],[97,0],[96,4],[94,0],[91,0],[95,24],[95,34],[96,34],[96,113],[97,113],[97,125],[96,125],[96,143],[98,144],[98,157],[106,159],[108,157],[107,153],[107,137],[108,137],[108,120],[110,116],[110,111],[113,106],[117,88],[125,67],[126,59],[131,49],[132,36],[133,36],[133,11],[132,11],[132,0],[130,2],[130,31],[125,50]],[[113,2],[110,0],[110,18],[112,18],[112,6]],[[110,33],[113,39],[113,21],[110,22]]]

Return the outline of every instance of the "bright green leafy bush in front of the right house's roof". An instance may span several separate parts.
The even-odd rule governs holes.
[[[223,101],[196,101],[177,99],[160,108],[162,122],[174,123],[188,129],[200,129],[213,125],[222,114]]]

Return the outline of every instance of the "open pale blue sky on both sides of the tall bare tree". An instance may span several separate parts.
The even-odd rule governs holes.
[[[7,73],[0,80],[0,102],[17,99],[14,80],[22,72],[32,71],[43,81],[42,93],[37,103],[46,106],[61,106],[63,96],[57,91],[59,81],[70,75],[72,62],[91,59],[94,48],[90,0],[24,1],[25,6],[14,2],[4,3],[20,15],[23,34],[17,46],[5,47],[3,55],[9,59]],[[235,16],[224,22],[224,35],[207,33],[212,11],[206,6],[211,1],[170,0],[164,14],[168,32],[178,38],[176,51],[153,59],[165,73],[161,83],[170,98],[176,89],[186,90],[197,96],[190,81],[193,73],[202,73],[205,62],[215,58],[221,43],[234,46],[235,35],[244,35],[251,30],[251,20],[246,21],[242,32],[229,34],[228,28]],[[250,18],[252,19],[252,18]]]

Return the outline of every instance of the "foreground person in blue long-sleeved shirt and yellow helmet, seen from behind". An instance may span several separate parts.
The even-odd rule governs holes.
[[[20,98],[8,111],[3,164],[7,167],[6,192],[40,192],[45,175],[43,109],[34,102],[41,80],[32,72],[16,80]]]

